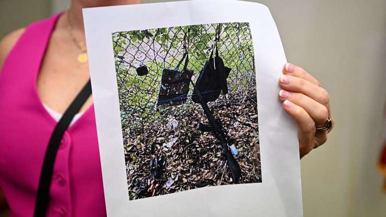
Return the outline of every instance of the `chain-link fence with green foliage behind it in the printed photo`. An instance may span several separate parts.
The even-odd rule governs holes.
[[[161,85],[162,70],[175,68],[183,58],[183,39],[190,29],[189,65],[193,80],[210,56],[219,24],[148,29],[113,33],[122,122],[147,116],[154,110]],[[228,78],[231,91],[244,91],[254,84],[254,55],[248,23],[221,23],[219,55],[232,68]],[[147,66],[140,76],[137,68]],[[249,73],[249,76],[245,76]],[[190,91],[192,93],[193,89]],[[245,93],[244,93],[245,94]],[[247,95],[247,94],[245,94]],[[138,119],[138,121],[139,121]]]

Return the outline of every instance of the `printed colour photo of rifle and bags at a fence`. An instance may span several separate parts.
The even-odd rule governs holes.
[[[130,200],[262,182],[249,23],[114,32],[112,43]]]

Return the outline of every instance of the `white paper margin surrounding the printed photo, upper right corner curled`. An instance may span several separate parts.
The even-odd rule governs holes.
[[[277,99],[286,58],[266,6],[236,0],[193,0],[85,8],[83,16],[108,216],[303,216],[297,128]],[[113,33],[212,23],[248,23],[251,31],[262,182],[129,200],[133,193],[128,192],[128,183],[132,182],[127,178]]]

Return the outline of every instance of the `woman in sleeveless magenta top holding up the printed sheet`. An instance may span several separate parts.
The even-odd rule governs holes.
[[[51,133],[89,79],[81,9],[134,3],[141,1],[72,0],[67,11],[0,41],[0,209],[7,204],[11,216],[32,216]],[[328,92],[290,63],[278,82],[279,100],[298,124],[302,158],[327,141],[334,125]],[[89,97],[64,133],[47,214],[106,215],[92,103]]]

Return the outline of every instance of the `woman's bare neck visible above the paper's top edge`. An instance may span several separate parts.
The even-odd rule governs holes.
[[[139,3],[142,3],[142,0],[72,0],[66,16],[74,31],[84,32],[82,8]]]

